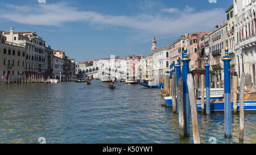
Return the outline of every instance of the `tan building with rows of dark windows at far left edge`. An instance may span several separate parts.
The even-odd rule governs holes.
[[[4,33],[0,31],[0,79],[12,75],[15,80],[25,72],[26,48],[22,44],[7,41]]]

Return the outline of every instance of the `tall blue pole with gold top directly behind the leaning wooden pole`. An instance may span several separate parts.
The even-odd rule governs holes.
[[[187,75],[189,72],[189,61],[191,59],[187,56],[187,47],[184,47],[184,52],[182,53],[181,61],[183,62],[182,66],[182,79],[183,79],[183,103],[184,103],[184,128],[185,136],[189,136],[189,94],[188,94],[188,84],[187,84]]]

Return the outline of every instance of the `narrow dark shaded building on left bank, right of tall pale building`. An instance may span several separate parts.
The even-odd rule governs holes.
[[[53,74],[53,49],[46,45],[46,74]]]

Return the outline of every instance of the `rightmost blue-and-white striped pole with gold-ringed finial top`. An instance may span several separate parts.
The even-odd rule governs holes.
[[[232,58],[228,55],[228,47],[225,48],[226,55],[222,58],[224,61],[224,91],[225,91],[225,137],[231,135],[231,101],[230,101],[230,61]]]

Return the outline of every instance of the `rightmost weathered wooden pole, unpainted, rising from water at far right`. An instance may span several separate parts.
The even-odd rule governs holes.
[[[244,129],[244,121],[245,121],[245,114],[244,114],[244,108],[243,108],[243,92],[245,89],[245,81],[246,81],[246,76],[245,76],[245,73],[243,73],[241,77],[241,86],[240,86],[240,130],[239,130],[240,143],[243,143],[243,129]]]

